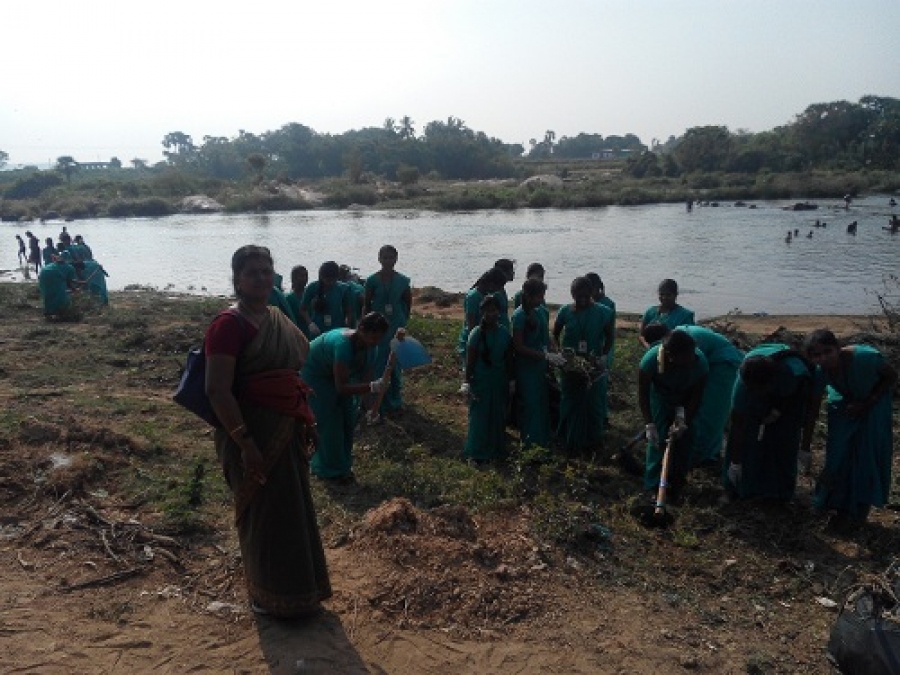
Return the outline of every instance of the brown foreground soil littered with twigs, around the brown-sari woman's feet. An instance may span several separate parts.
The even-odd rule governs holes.
[[[323,523],[335,593],[321,616],[256,616],[227,499],[193,529],[160,507],[194,470],[186,458],[212,450],[170,395],[175,361],[224,301],[117,293],[103,314],[53,323],[16,288],[0,290],[0,672],[823,673],[836,616],[823,598],[839,603],[898,550],[896,493],[837,535],[809,512],[809,478],[796,504],[748,510],[720,504],[710,475],[674,526],[645,529],[627,513],[633,479],[604,465],[583,478],[608,522],[576,546],[537,537],[528,506],[389,498]],[[455,320],[452,304],[417,311]],[[757,335],[858,329],[728,320]],[[427,406],[386,428],[427,439]],[[365,490],[337,499],[352,511]]]

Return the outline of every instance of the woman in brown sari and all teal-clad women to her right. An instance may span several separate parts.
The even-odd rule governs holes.
[[[402,405],[399,370],[386,368],[390,341],[403,338],[410,315],[410,284],[394,269],[396,249],[383,247],[378,260],[381,269],[361,291],[328,262],[308,285],[305,269],[295,267],[291,292],[283,294],[269,250],[244,246],[232,258],[237,302],[207,330],[206,389],[221,423],[215,443],[234,494],[257,612],[304,616],[329,597],[309,473],[352,481],[359,398],[370,397],[373,413],[379,410],[371,399],[385,413]],[[464,455],[476,462],[503,456],[510,421],[524,446],[555,441],[578,453],[597,448],[608,426],[615,303],[599,276],[578,277],[572,302],[560,308],[551,329],[543,276],[541,265],[529,266],[511,316],[505,286],[514,278],[512,261],[497,261],[465,296],[459,341],[469,412]],[[884,357],[862,345],[842,348],[828,331],[810,335],[805,355],[774,344],[745,355],[693,325],[693,313],[677,296],[677,284],[664,281],[659,304],[641,320],[644,486],[659,484],[668,445],[676,501],[692,467],[720,462],[735,497],[791,499],[827,387],[828,440],[815,503],[849,523],[883,505],[890,491],[890,392],[897,381]]]

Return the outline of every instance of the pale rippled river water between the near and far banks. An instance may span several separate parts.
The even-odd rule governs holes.
[[[620,310],[643,311],[656,286],[671,277],[680,302],[698,317],[744,313],[863,314],[877,312],[883,278],[900,272],[900,235],[882,228],[887,196],[833,201],[793,212],[787,202],[754,209],[723,204],[605,207],[582,210],[309,211],[167,218],[93,219],[68,223],[109,272],[111,290],[132,284],[203,295],[231,290],[231,254],[243,244],[271,248],[289,283],[293,265],[315,278],[319,264],[337,260],[369,274],[378,248],[400,251],[397,269],[415,286],[462,291],[500,257],[517,261],[521,283],[528,263],[547,269],[548,300],[565,302],[572,278],[598,272]],[[900,213],[900,209],[894,209]],[[819,219],[825,228],[814,228]],[[846,227],[858,222],[856,236]],[[54,239],[61,222],[2,223],[0,279],[22,280],[15,234],[31,229]],[[785,242],[788,230],[800,236]],[[812,232],[812,237],[807,234]],[[287,290],[287,288],[285,289]],[[510,292],[512,295],[512,292]]]

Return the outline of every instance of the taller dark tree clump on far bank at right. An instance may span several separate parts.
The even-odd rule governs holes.
[[[685,173],[756,174],[900,169],[900,100],[816,103],[793,122],[761,133],[723,126],[688,129],[629,160],[635,178]]]

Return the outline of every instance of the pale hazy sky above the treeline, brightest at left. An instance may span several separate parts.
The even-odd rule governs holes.
[[[204,136],[453,115],[508,143],[762,131],[900,97],[900,0],[8,0],[11,165]]]

